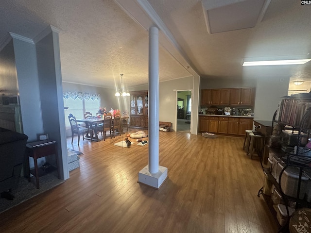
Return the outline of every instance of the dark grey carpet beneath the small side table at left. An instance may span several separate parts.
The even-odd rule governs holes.
[[[57,171],[46,174],[39,178],[40,188],[36,188],[35,177],[31,178],[31,181],[28,182],[28,179],[25,177],[20,177],[18,186],[16,189],[13,189],[10,194],[15,198],[13,200],[7,200],[0,198],[0,213],[29,200],[61,183],[64,183],[64,180],[59,180],[57,178]]]

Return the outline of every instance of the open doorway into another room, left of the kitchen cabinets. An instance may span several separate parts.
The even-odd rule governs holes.
[[[177,91],[176,98],[177,98],[176,131],[190,133],[192,90],[179,90]]]

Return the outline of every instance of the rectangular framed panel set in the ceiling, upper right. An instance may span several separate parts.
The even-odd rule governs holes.
[[[259,23],[270,0],[201,0],[208,33],[253,28]]]

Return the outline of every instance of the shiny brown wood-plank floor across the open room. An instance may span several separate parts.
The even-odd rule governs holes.
[[[243,138],[160,133],[159,190],[137,183],[148,146],[121,148],[77,137],[80,168],[46,193],[0,214],[1,233],[276,233],[261,197],[259,160]]]

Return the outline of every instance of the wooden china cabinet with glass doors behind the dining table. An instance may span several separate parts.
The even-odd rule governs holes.
[[[134,91],[130,94],[130,126],[148,128],[148,91]]]

